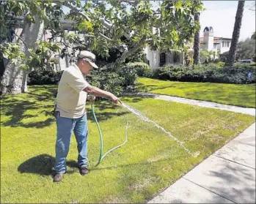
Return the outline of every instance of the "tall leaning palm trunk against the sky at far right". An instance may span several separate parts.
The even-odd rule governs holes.
[[[235,26],[233,29],[231,46],[230,46],[230,51],[227,56],[227,65],[228,66],[233,66],[233,64],[235,63],[235,50],[238,46],[238,39],[240,36],[243,12],[244,12],[244,1],[238,1],[238,9],[236,10],[236,15],[235,15]]]

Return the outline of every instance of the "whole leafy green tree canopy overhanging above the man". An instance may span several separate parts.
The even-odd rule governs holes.
[[[133,53],[145,48],[145,45],[150,45],[153,50],[183,49],[190,42],[191,35],[194,34],[196,29],[193,16],[202,10],[202,3],[195,3],[194,1],[158,1],[157,7],[153,7],[149,0],[84,1],[83,4],[80,0],[5,2],[7,5],[12,2],[15,6],[18,5],[18,10],[29,10],[30,12],[37,10],[37,7],[43,7],[43,10],[38,10],[40,12],[34,12],[30,16],[34,18],[35,15],[38,15],[41,19],[40,23],[44,22],[45,29],[48,27],[50,27],[48,29],[51,29],[55,24],[59,24],[57,18],[49,19],[52,12],[62,13],[62,8],[68,7],[70,12],[65,15],[65,18],[73,20],[73,29],[84,33],[83,37],[78,36],[78,34],[65,34],[65,32],[58,30],[58,26],[55,26],[58,31],[56,31],[56,28],[51,29],[52,38],[50,42],[36,41],[36,46],[32,47],[29,43],[26,43],[28,44],[26,49],[29,50],[29,53],[28,55],[19,56],[23,58],[24,63],[18,64],[17,69],[22,67],[31,69],[31,62],[34,59],[40,61],[40,56],[45,55],[49,50],[56,50],[56,45],[59,44],[65,46],[62,49],[64,56],[76,56],[79,50],[87,49],[100,56],[107,57],[111,48],[118,49],[122,54],[114,61],[113,70],[118,69],[119,65]],[[24,8],[25,6],[26,8]],[[4,10],[8,13],[12,11],[12,7],[7,7]],[[34,20],[33,23],[38,24],[39,21]],[[4,21],[4,24],[7,24],[6,21]],[[29,29],[23,29],[23,31],[24,36],[29,36]],[[65,43],[64,37],[69,43]],[[22,37],[21,39],[22,42],[25,42]],[[38,40],[37,37],[33,39]],[[70,43],[76,44],[76,46],[70,48]],[[4,53],[3,56],[10,61],[17,62],[13,55],[14,49],[6,49],[12,44],[10,42],[6,44],[5,50],[0,50],[0,53]],[[3,48],[3,46],[1,47]],[[36,50],[40,50],[40,52],[36,53]],[[19,52],[16,51],[15,53],[18,55]],[[26,59],[29,59],[29,61],[26,61]],[[28,64],[29,67],[27,67]],[[2,85],[12,87],[13,83],[2,83]]]

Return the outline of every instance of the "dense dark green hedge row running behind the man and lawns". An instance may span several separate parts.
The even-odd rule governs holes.
[[[57,84],[63,71],[32,71],[29,73],[29,85]],[[249,77],[249,72],[252,74]],[[184,82],[212,82],[212,83],[255,83],[255,64],[235,64],[233,67],[221,67],[219,64],[185,67],[183,65],[169,65],[152,69],[142,62],[128,63],[112,72],[111,67],[100,67],[99,70],[87,76],[92,86],[97,86],[114,94],[121,94],[124,90],[134,88],[137,77],[155,78],[159,80],[173,80]]]

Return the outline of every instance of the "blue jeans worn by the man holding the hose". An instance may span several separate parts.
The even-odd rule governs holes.
[[[87,115],[81,118],[64,118],[59,112],[56,113],[57,138],[56,138],[56,161],[54,169],[56,173],[65,173],[66,158],[70,147],[70,138],[74,132],[78,149],[78,166],[87,167]]]

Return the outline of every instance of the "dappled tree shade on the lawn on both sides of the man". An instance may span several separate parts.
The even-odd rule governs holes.
[[[21,126],[25,128],[44,128],[55,122],[51,111],[54,109],[54,98],[56,97],[56,87],[54,86],[32,86],[27,94],[7,94],[1,96],[1,114],[10,116],[6,120],[1,121],[1,126]],[[125,97],[124,102],[139,102],[142,97]],[[44,104],[43,102],[52,102],[52,105]],[[128,113],[127,110],[120,110],[111,101],[95,102],[95,114],[98,121],[106,121],[116,116],[124,116]],[[28,112],[33,110],[33,113]],[[38,110],[38,111],[37,111]],[[36,112],[37,111],[37,112]],[[36,112],[36,113],[35,113]],[[23,122],[24,118],[36,118],[40,114],[44,114],[47,118],[44,121]],[[87,105],[87,118],[94,121],[90,104]]]

